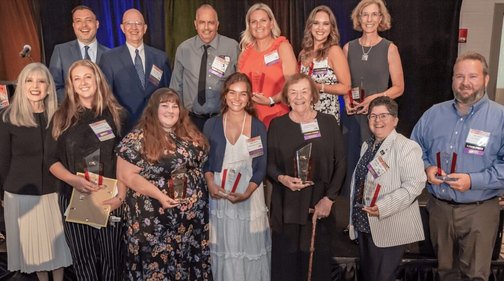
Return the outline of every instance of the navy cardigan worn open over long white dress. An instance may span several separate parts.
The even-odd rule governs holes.
[[[222,125],[222,115],[212,117],[205,122],[203,133],[208,138],[210,143],[210,151],[208,153],[208,161],[203,166],[203,173],[221,172],[222,162],[224,161],[224,152],[226,151],[226,136],[224,135],[224,126]],[[266,176],[267,166],[267,133],[266,126],[259,119],[252,117],[250,128],[250,138],[261,136],[263,143],[264,154],[252,159],[252,177],[250,182],[260,185]]]

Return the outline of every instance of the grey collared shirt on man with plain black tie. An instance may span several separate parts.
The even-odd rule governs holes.
[[[210,69],[216,56],[228,58],[229,64],[223,77],[219,77],[207,70],[206,102],[203,106],[198,103],[198,82],[200,80],[201,58],[205,48],[201,38],[196,35],[187,39],[177,48],[170,88],[174,89],[182,99],[183,106],[196,114],[217,113],[220,110],[220,94],[226,78],[236,72],[238,59],[238,42],[220,34],[210,42],[207,49],[207,68]]]

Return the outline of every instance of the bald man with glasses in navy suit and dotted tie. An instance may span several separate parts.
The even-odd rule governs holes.
[[[144,44],[147,25],[138,10],[124,13],[121,30],[126,43],[105,52],[99,65],[117,101],[130,114],[133,125],[152,93],[169,85],[171,69],[165,52]]]

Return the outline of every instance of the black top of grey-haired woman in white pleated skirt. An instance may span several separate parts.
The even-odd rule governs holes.
[[[5,109],[4,109],[5,110]],[[56,192],[55,177],[44,167],[44,113],[34,113],[37,127],[20,127],[2,121],[0,111],[0,193],[45,195]]]

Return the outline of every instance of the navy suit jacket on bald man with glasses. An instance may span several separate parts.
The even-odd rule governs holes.
[[[170,62],[166,53],[145,44],[144,48],[145,89],[142,88],[126,44],[105,52],[99,63],[115,98],[128,111],[132,125],[137,123],[152,93],[158,88],[168,87],[171,78]],[[149,81],[153,65],[163,71],[158,86]]]

